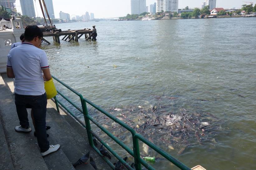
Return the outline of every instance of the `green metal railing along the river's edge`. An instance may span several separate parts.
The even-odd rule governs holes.
[[[128,152],[128,154],[130,154],[131,156],[134,157],[134,166],[137,170],[141,170],[141,165],[143,165],[144,167],[146,167],[147,169],[150,170],[154,170],[154,168],[149,165],[145,160],[143,160],[140,156],[140,148],[139,148],[139,140],[143,143],[145,143],[146,145],[148,145],[149,147],[151,147],[153,150],[155,150],[157,153],[161,154],[164,158],[166,158],[167,160],[169,160],[171,163],[173,163],[174,165],[176,165],[178,168],[182,169],[182,170],[188,170],[190,169],[189,167],[187,167],[186,165],[184,165],[183,163],[181,163],[180,161],[178,161],[177,159],[175,159],[174,157],[172,157],[170,154],[168,154],[167,152],[165,152],[164,150],[162,150],[161,148],[159,148],[157,145],[153,144],[152,142],[150,142],[149,140],[147,140],[146,138],[144,138],[143,136],[141,136],[140,134],[136,133],[136,131],[128,126],[126,123],[122,122],[121,120],[119,120],[118,118],[114,117],[113,115],[111,115],[110,113],[106,112],[104,109],[100,108],[99,106],[97,106],[96,104],[92,103],[91,101],[89,101],[88,99],[85,99],[80,93],[78,93],[77,91],[75,91],[74,89],[72,89],[70,86],[66,85],[65,83],[63,83],[62,81],[60,81],[59,79],[57,79],[55,76],[52,76],[56,81],[58,81],[60,84],[62,84],[63,86],[65,86],[67,89],[71,90],[74,94],[76,94],[77,96],[79,96],[80,101],[81,101],[81,106],[82,109],[77,106],[74,102],[72,102],[70,99],[68,99],[64,94],[62,94],[59,90],[57,90],[58,94],[60,94],[60,96],[62,96],[66,101],[68,101],[70,104],[72,104],[77,110],[79,110],[85,118],[85,123],[83,123],[74,113],[72,113],[72,111],[65,106],[64,103],[62,103],[59,99],[56,98],[56,96],[54,97],[55,99],[55,103],[56,103],[56,108],[57,111],[60,112],[58,104],[60,104],[68,113],[70,113],[70,115],[72,115],[78,122],[80,122],[80,124],[82,126],[84,126],[86,128],[87,131],[87,135],[88,135],[88,140],[89,140],[89,144],[91,145],[91,147],[99,154],[102,155],[99,152],[99,149],[97,149],[94,146],[93,143],[93,136],[99,140],[100,143],[102,143],[104,145],[105,148],[107,148],[109,150],[109,152],[111,152],[111,154],[113,154],[127,169],[129,170],[133,170],[133,168],[126,163],[111,147],[109,147],[109,145],[107,145],[103,140],[101,140],[99,138],[99,136],[97,136],[97,134],[95,134],[92,130],[91,130],[91,124],[90,122],[94,123],[96,126],[99,127],[99,129],[101,129],[105,134],[107,134],[112,140],[114,140],[118,145],[120,145],[124,150],[126,150]],[[128,146],[126,146],[125,144],[123,144],[122,141],[120,141],[119,139],[117,139],[112,133],[110,133],[107,129],[105,129],[99,122],[97,122],[96,120],[94,120],[94,118],[92,118],[89,114],[88,114],[88,110],[87,110],[87,104],[91,105],[92,107],[96,108],[99,112],[103,113],[104,115],[106,115],[107,117],[109,117],[110,119],[112,119],[114,122],[118,123],[119,125],[123,126],[125,129],[127,129],[131,135],[132,135],[132,139],[133,139],[133,149],[130,149]],[[112,169],[115,169],[113,163],[111,163],[108,159],[106,159],[105,157],[102,157]]]

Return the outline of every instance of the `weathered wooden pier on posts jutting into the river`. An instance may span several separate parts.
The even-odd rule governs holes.
[[[85,35],[85,40],[96,40],[97,37],[97,31],[95,29],[95,25],[92,26],[93,29],[83,29],[83,30],[67,30],[67,31],[62,31],[61,29],[55,29],[52,30],[52,32],[43,32],[44,37],[53,37],[53,40],[56,43],[60,43],[60,36],[64,36],[62,38],[62,40],[64,41],[78,41],[78,39]],[[48,42],[46,39],[43,38],[43,40],[48,43],[51,44],[50,42]]]

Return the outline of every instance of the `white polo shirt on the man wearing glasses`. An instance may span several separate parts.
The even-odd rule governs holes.
[[[46,53],[24,42],[12,48],[8,54],[7,67],[12,68],[15,76],[16,94],[42,95],[45,93],[42,69],[49,68]]]

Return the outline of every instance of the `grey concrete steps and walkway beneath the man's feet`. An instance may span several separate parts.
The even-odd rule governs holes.
[[[15,126],[19,126],[19,119],[14,103],[13,82],[7,74],[0,76],[0,169],[88,169],[94,168],[83,164],[74,168],[74,164],[89,150],[98,169],[111,169],[109,165],[92,149],[87,140],[87,133],[83,126],[77,123],[69,114],[58,113],[55,103],[49,99],[47,104],[46,125],[50,145],[60,144],[60,149],[42,158],[40,149],[34,136],[34,127],[30,117],[32,132],[17,133]],[[99,142],[98,142],[99,143]],[[99,147],[99,146],[98,146]],[[113,160],[114,161],[114,160]]]

